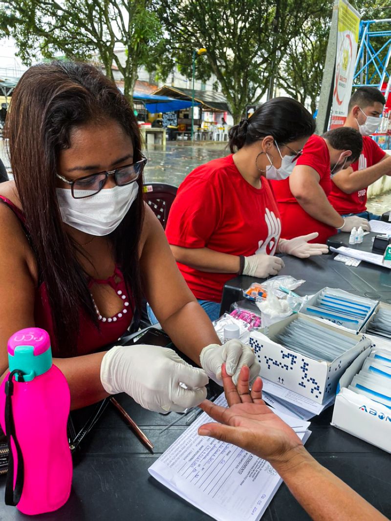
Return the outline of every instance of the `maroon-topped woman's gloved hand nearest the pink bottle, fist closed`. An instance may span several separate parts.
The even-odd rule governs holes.
[[[198,405],[206,398],[208,381],[205,371],[187,364],[172,349],[156,345],[116,345],[101,363],[106,392],[126,392],[145,409],[160,413]]]

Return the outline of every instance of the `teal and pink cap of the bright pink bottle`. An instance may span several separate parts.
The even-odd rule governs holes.
[[[43,375],[53,364],[50,337],[44,329],[26,328],[17,331],[8,340],[9,370],[19,369],[30,382]]]

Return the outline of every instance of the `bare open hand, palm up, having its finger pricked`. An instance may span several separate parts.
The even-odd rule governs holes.
[[[235,387],[222,368],[224,391],[229,407],[215,405],[209,400],[200,407],[219,423],[199,428],[202,436],[211,436],[233,443],[273,463],[283,463],[302,443],[294,430],[272,412],[262,400],[262,380],[257,378],[249,392],[249,368],[243,366]]]

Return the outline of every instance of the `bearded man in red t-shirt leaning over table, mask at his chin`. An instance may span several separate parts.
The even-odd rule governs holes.
[[[362,150],[362,138],[357,130],[338,128],[322,137],[312,135],[298,157],[290,176],[283,181],[271,181],[281,215],[281,237],[318,232],[318,242],[326,242],[337,229],[351,231],[354,226],[369,230],[368,221],[358,217],[346,219],[328,202],[331,173],[357,160]]]

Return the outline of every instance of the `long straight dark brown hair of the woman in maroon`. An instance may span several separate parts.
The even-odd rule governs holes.
[[[31,67],[21,77],[7,117],[11,168],[15,176],[41,280],[46,283],[60,356],[76,355],[79,311],[99,328],[88,281],[77,261],[80,251],[62,226],[55,172],[60,151],[70,147],[73,128],[114,119],[129,135],[135,161],[141,139],[135,115],[114,82],[84,63],[55,61]],[[144,218],[143,181],[137,200],[108,235],[135,307],[141,302],[138,246]],[[134,311],[134,310],[133,310]]]

